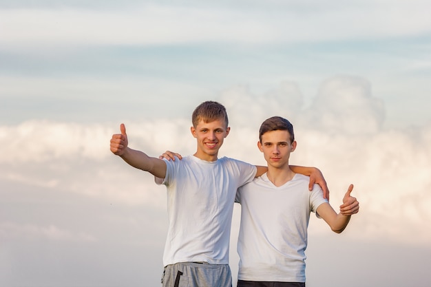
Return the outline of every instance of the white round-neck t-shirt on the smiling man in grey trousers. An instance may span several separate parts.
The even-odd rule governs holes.
[[[235,193],[253,180],[256,167],[225,157],[165,161],[169,229],[163,264],[229,264]]]

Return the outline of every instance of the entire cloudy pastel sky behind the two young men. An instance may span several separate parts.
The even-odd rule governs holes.
[[[312,216],[309,287],[430,286],[431,10],[420,0],[0,0],[0,286],[160,286],[165,188],[109,151],[196,151],[217,100],[219,156],[265,164],[257,131],[295,127],[341,234]],[[231,232],[233,281],[238,272]]]

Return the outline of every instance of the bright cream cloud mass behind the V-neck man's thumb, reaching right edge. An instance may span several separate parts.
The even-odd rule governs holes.
[[[426,128],[419,132],[429,136]],[[402,130],[352,138],[321,131],[311,135],[316,142],[307,140],[307,132],[305,136],[293,156],[295,162],[307,158],[324,171],[335,210],[348,184],[355,184],[353,195],[361,202],[361,211],[349,227],[353,237],[390,236],[391,241],[414,244],[431,240],[431,231],[422,228],[431,222],[431,195],[426,189],[431,184],[430,140],[417,142]]]

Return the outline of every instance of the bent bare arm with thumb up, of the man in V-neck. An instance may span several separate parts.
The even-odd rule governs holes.
[[[346,211],[344,212],[341,212],[340,206],[340,213],[337,214],[329,203],[320,204],[319,207],[317,207],[319,216],[325,220],[335,233],[343,232],[350,221],[350,216],[359,211],[359,202],[350,195],[352,191],[353,184],[350,184],[348,191],[344,195],[343,204],[341,205],[345,206],[344,208]]]

